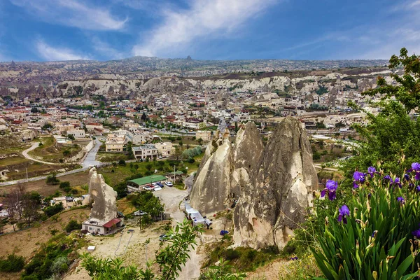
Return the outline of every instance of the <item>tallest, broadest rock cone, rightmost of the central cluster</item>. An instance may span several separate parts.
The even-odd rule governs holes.
[[[282,248],[304,221],[317,185],[306,131],[300,121],[288,117],[272,133],[241,190],[234,212],[235,245]]]

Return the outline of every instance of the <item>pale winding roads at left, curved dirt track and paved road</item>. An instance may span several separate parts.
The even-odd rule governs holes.
[[[32,144],[31,148],[28,148],[27,150],[23,151],[22,154],[25,156],[25,158],[27,158],[28,160],[34,160],[36,162],[42,162],[46,165],[58,165],[57,163],[43,162],[42,160],[36,160],[36,159],[32,158],[30,155],[28,155],[28,152],[33,151],[36,147],[38,147],[38,145],[39,145],[38,142],[36,142],[36,143]],[[60,176],[66,176],[66,175],[69,175],[69,174],[75,174],[75,173],[78,173],[78,172],[84,172],[87,169],[89,169],[90,167],[102,165],[102,162],[99,162],[99,161],[96,160],[96,155],[99,151],[99,146],[101,146],[101,143],[99,142],[98,139],[96,139],[95,143],[94,143],[94,147],[92,148],[92,150],[90,150],[89,153],[87,153],[87,155],[83,159],[83,162],[80,162],[80,165],[82,165],[82,168],[57,173],[56,176],[60,177]],[[20,179],[20,180],[1,182],[0,186],[10,186],[10,185],[15,185],[17,183],[26,183],[26,182],[45,180],[45,179],[47,179],[47,176],[48,175],[43,175],[43,176],[37,176],[37,177],[28,178],[28,179]]]

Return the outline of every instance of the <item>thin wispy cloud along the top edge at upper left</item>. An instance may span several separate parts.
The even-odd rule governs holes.
[[[127,18],[120,20],[102,6],[87,6],[78,0],[10,0],[25,8],[38,20],[90,30],[120,30]]]

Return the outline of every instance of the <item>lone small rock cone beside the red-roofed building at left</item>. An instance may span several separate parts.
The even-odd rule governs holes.
[[[90,202],[93,202],[90,218],[111,221],[117,216],[117,192],[105,183],[102,174],[97,174],[96,168],[90,169],[89,178]]]

